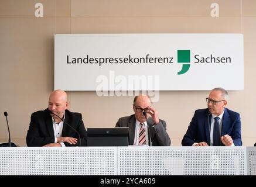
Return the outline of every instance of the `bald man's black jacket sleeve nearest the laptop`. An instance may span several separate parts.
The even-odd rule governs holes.
[[[87,146],[87,131],[86,131],[86,128],[84,127],[84,122],[82,119],[82,115],[80,113],[79,114],[77,113],[76,121],[74,123],[75,123],[74,128],[77,130],[77,132],[79,133],[80,138],[81,138],[81,146]],[[78,140],[77,143],[73,145],[73,144],[64,142],[65,146],[74,147],[74,146],[80,145],[80,143],[79,143],[80,140],[79,140],[77,133],[75,136],[70,136],[70,137],[76,137]]]

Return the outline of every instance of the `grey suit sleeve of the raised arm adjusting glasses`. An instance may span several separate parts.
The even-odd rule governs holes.
[[[159,146],[170,146],[170,137],[166,131],[166,123],[164,120],[160,120],[158,124],[153,127],[156,132],[156,139]]]

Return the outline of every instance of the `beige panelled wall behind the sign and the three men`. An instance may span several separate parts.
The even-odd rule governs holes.
[[[43,18],[35,18],[36,2],[43,4]],[[210,16],[213,2],[220,6],[219,18]],[[228,108],[241,114],[243,145],[256,142],[256,1],[0,0],[0,142],[8,141],[4,111],[12,141],[26,146],[31,113],[47,108],[56,33],[243,33],[244,91],[229,92]],[[118,117],[132,113],[131,96],[68,95],[70,109],[83,114],[86,127],[112,127]],[[172,146],[181,145],[194,110],[206,108],[207,95],[208,91],[160,93],[153,105],[168,124]]]

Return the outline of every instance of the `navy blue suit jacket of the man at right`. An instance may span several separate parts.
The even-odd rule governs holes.
[[[189,128],[182,140],[182,146],[192,146],[193,143],[202,141],[210,145],[209,109],[199,109],[189,124]],[[228,134],[233,139],[235,146],[242,146],[240,114],[225,108],[221,136]],[[224,146],[224,145],[223,145]]]

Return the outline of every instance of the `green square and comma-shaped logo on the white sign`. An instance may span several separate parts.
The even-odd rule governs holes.
[[[178,63],[190,63],[190,50],[178,50]],[[182,64],[182,70],[178,75],[185,74],[189,70],[190,64]]]

